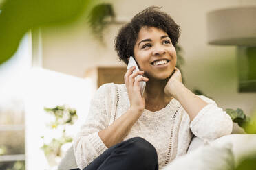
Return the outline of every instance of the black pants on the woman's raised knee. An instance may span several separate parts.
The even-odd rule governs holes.
[[[144,138],[130,138],[109,147],[83,170],[158,170],[156,149]]]

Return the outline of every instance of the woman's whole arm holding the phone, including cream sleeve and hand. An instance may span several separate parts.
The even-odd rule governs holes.
[[[131,73],[132,70],[127,74],[127,78],[129,77],[129,79],[132,80],[131,86],[129,85],[130,89],[127,90],[131,94],[133,93],[131,91],[135,93],[132,94],[130,98],[131,107],[109,127],[107,125],[107,112],[105,109],[107,107],[105,104],[106,85],[100,86],[92,99],[87,121],[81,127],[81,131],[74,139],[73,144],[74,155],[79,169],[83,169],[89,165],[90,162],[102,154],[108,147],[122,141],[132,125],[134,125],[142,114],[145,104],[144,106],[143,103],[140,104],[140,102],[144,100],[141,96],[138,97],[140,95],[139,82],[147,80],[145,77],[140,77],[140,79],[134,81],[134,77],[136,77],[138,73]]]

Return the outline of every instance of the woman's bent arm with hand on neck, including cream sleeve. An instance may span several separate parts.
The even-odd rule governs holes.
[[[164,89],[165,93],[177,99],[191,120],[191,131],[201,139],[215,139],[231,134],[231,117],[204,96],[193,94],[181,82],[181,73],[176,69]]]

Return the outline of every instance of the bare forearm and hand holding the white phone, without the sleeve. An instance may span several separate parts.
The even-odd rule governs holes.
[[[116,119],[114,123],[112,123],[105,130],[101,130],[98,132],[98,135],[103,140],[107,147],[111,147],[116,143],[119,143],[127,136],[131,127],[136,123],[136,121],[141,116],[144,108],[145,108],[145,99],[140,95],[140,81],[147,82],[148,79],[146,77],[141,76],[140,78],[135,80],[135,77],[140,74],[143,75],[143,71],[134,72],[135,66],[131,67],[125,73],[125,85],[127,87],[129,100],[130,100],[130,108],[122,114],[121,117]]]

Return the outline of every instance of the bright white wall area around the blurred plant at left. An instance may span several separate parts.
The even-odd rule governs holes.
[[[92,82],[89,78],[81,79],[47,69],[34,68],[28,74],[28,86],[25,88],[25,131],[26,131],[26,169],[56,169],[59,159],[53,159],[53,165],[48,165],[41,147],[43,142],[49,143],[52,138],[60,138],[61,130],[50,129],[49,123],[53,117],[43,108],[67,106],[77,111],[79,119],[72,126],[67,126],[67,136],[74,136],[80,130],[87,117],[92,92]],[[44,136],[44,141],[41,138]],[[72,146],[67,143],[65,149]]]

